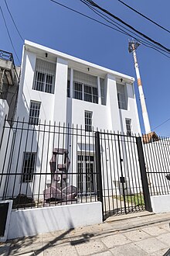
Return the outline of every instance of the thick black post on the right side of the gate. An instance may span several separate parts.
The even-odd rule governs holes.
[[[144,158],[144,151],[141,143],[141,137],[136,138],[136,143],[137,143],[137,149],[138,149],[138,160],[139,160],[139,166],[141,171],[141,183],[142,183],[142,188],[144,193],[145,209],[148,212],[152,212],[151,198],[150,198],[149,189],[148,189],[148,178],[146,175],[145,158]]]

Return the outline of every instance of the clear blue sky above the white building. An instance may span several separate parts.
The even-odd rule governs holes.
[[[93,19],[104,22],[86,5],[83,5],[80,0],[56,1],[91,16]],[[151,39],[170,48],[170,33],[131,11],[118,0],[93,1],[123,19],[124,22],[128,22],[135,29],[145,33]],[[6,2],[24,40],[42,44],[114,71],[128,74],[136,79],[133,57],[132,54],[128,53],[130,36],[80,16],[49,0],[6,0]],[[124,0],[124,2],[170,30],[170,2],[168,0],[164,2],[161,0]],[[19,65],[21,64],[24,42],[15,29],[6,8],[5,0],[1,0],[0,6],[15,51],[9,40],[2,12],[0,12],[0,49],[11,52],[14,56],[15,65]],[[168,78],[170,58],[156,50],[145,47],[143,44],[138,47],[137,57],[151,130],[155,131],[158,136],[170,137],[170,81]],[[141,131],[145,133],[137,81],[134,82],[134,89]]]

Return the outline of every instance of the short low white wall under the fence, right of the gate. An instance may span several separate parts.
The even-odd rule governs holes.
[[[170,195],[151,196],[151,207],[154,213],[170,212]]]

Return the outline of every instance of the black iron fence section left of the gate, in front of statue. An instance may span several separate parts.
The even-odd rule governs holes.
[[[2,133],[0,200],[13,208],[97,201],[93,131],[5,120]]]

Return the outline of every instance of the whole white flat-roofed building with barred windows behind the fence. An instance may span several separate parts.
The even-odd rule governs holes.
[[[69,151],[72,176],[68,182],[82,193],[95,192],[93,130],[128,136],[141,133],[134,78],[27,40],[15,120],[12,146],[8,147],[9,167],[6,164],[8,173],[15,175],[8,177],[8,182],[4,180],[5,197],[19,193],[43,197],[43,190],[51,182],[53,148]],[[83,131],[64,128],[72,124],[82,126]],[[105,144],[101,148],[106,155],[108,147]],[[121,150],[124,154],[123,147]],[[114,147],[109,154],[117,161]],[[112,165],[114,171],[114,162]],[[35,172],[39,174],[36,177]],[[117,184],[119,178],[117,171],[111,182]]]

